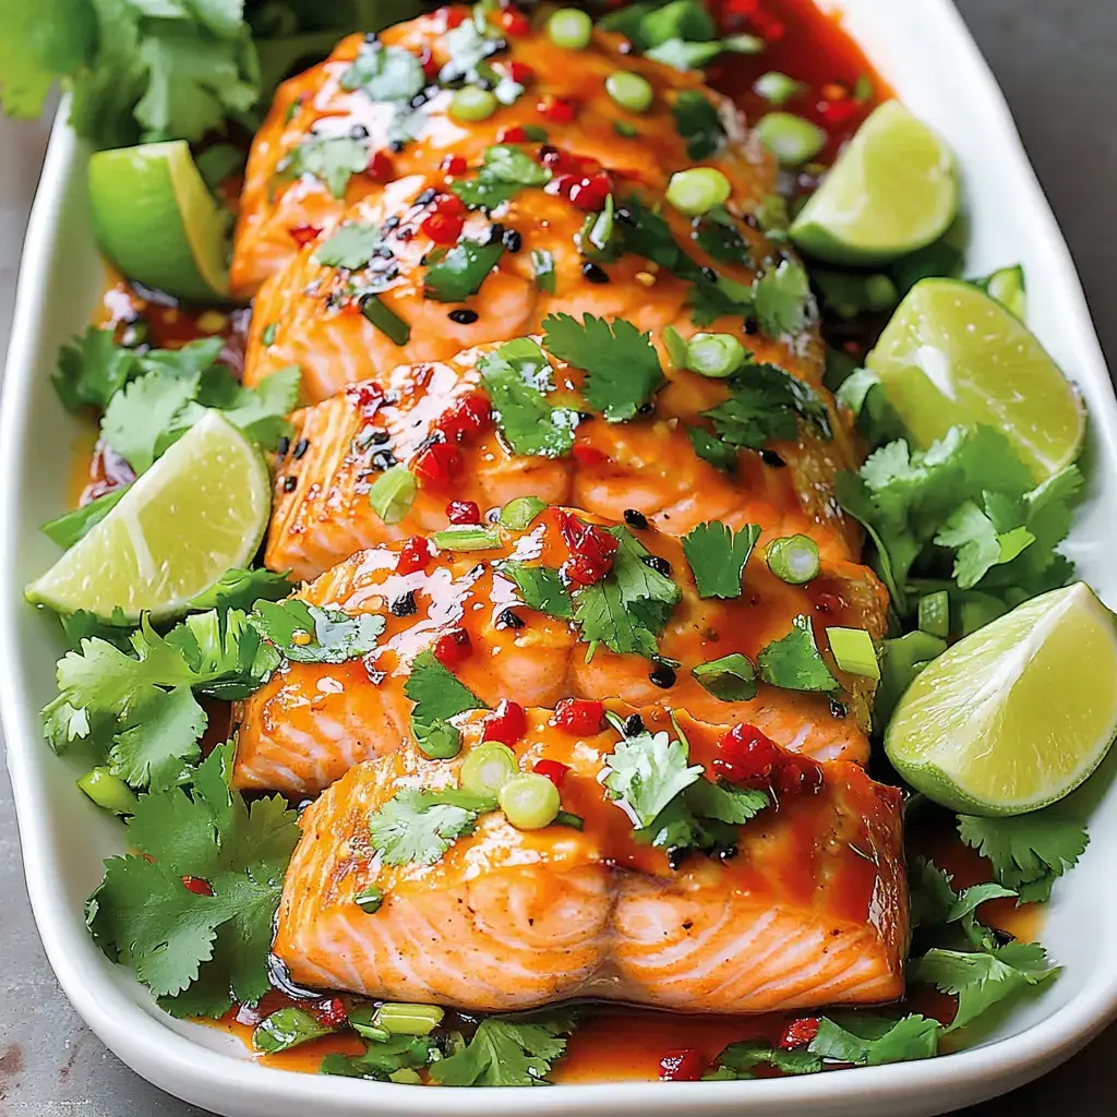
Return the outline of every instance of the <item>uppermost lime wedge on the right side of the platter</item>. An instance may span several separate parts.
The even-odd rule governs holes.
[[[898,101],[858,128],[791,227],[831,264],[885,264],[937,240],[958,209],[949,147]]]

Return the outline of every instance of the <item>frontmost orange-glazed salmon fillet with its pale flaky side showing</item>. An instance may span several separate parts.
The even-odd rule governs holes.
[[[679,724],[689,762],[709,772],[716,732],[685,715]],[[469,715],[457,758],[408,746],[353,768],[306,810],[274,945],[295,982],[470,1011],[592,996],[761,1013],[903,993],[898,790],[828,763],[817,794],[739,828],[736,856],[695,853],[671,869],[663,850],[633,839],[600,782],[618,735],[572,736],[531,710],[519,767],[566,765],[562,805],[584,829],[521,831],[493,811],[435,865],[382,865],[369,814],[402,789],[456,786],[480,736]],[[372,884],[384,900],[366,914],[353,897]]]

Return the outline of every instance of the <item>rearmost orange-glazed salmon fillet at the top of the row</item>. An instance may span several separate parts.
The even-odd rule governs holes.
[[[468,27],[462,30],[460,26],[447,34],[448,11],[469,10],[442,9],[441,13],[401,23],[383,31],[379,42],[409,50],[417,58],[429,57],[428,68],[433,74],[450,60],[455,40],[469,34]],[[666,185],[672,172],[704,162],[726,173],[733,183],[734,201],[744,211],[752,211],[773,192],[771,156],[746,131],[733,104],[707,88],[697,74],[622,54],[623,38],[608,31],[595,31],[592,45],[576,52],[556,47],[544,31],[507,36],[494,26],[493,34],[507,46],[488,61],[502,76],[512,70],[519,74],[525,90],[514,104],[500,107],[486,121],[460,122],[451,117],[448,109],[452,93],[437,85],[429,87],[433,95],[414,112],[409,112],[407,103],[373,99],[360,86],[345,89],[342,83],[359,55],[379,49],[361,35],[343,39],[325,63],[279,87],[248,162],[230,276],[235,295],[252,296],[265,279],[296,255],[296,237],[303,230],[328,232],[349,206],[378,197],[384,178],[414,173],[430,178],[448,156],[461,157],[476,169],[485,150],[503,142],[514,128],[543,127],[548,143],[657,190]],[[647,113],[633,117],[607,94],[605,78],[617,69],[640,74],[651,83],[656,97]],[[686,92],[700,92],[718,111],[727,141],[716,157],[699,161],[688,154],[672,114],[679,94]],[[555,120],[555,114],[545,108],[541,111],[551,98],[571,104],[573,115],[569,122]],[[393,122],[399,123],[401,114],[413,139],[392,151],[389,130]],[[617,123],[634,126],[638,134],[618,134]],[[374,173],[354,173],[338,197],[312,175],[285,178],[284,161],[314,136],[357,137],[366,162],[378,161]]]

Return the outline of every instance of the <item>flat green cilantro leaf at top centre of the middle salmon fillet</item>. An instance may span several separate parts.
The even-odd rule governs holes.
[[[579,323],[569,314],[552,314],[543,331],[548,353],[585,371],[582,394],[610,422],[632,419],[663,384],[651,335],[623,318],[610,323],[586,314]]]

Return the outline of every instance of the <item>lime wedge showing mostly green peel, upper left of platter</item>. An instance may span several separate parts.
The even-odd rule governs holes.
[[[183,140],[98,151],[89,160],[93,228],[130,279],[180,298],[229,295],[229,214]]]

